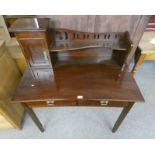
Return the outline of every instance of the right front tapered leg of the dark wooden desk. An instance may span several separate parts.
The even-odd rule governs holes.
[[[123,120],[125,119],[126,115],[128,114],[128,112],[130,111],[130,109],[132,108],[132,106],[134,105],[134,103],[130,103],[127,107],[125,107],[120,116],[118,117],[113,129],[112,129],[112,132],[116,132],[116,130],[119,128],[119,126],[121,125],[121,123],[123,122]]]

